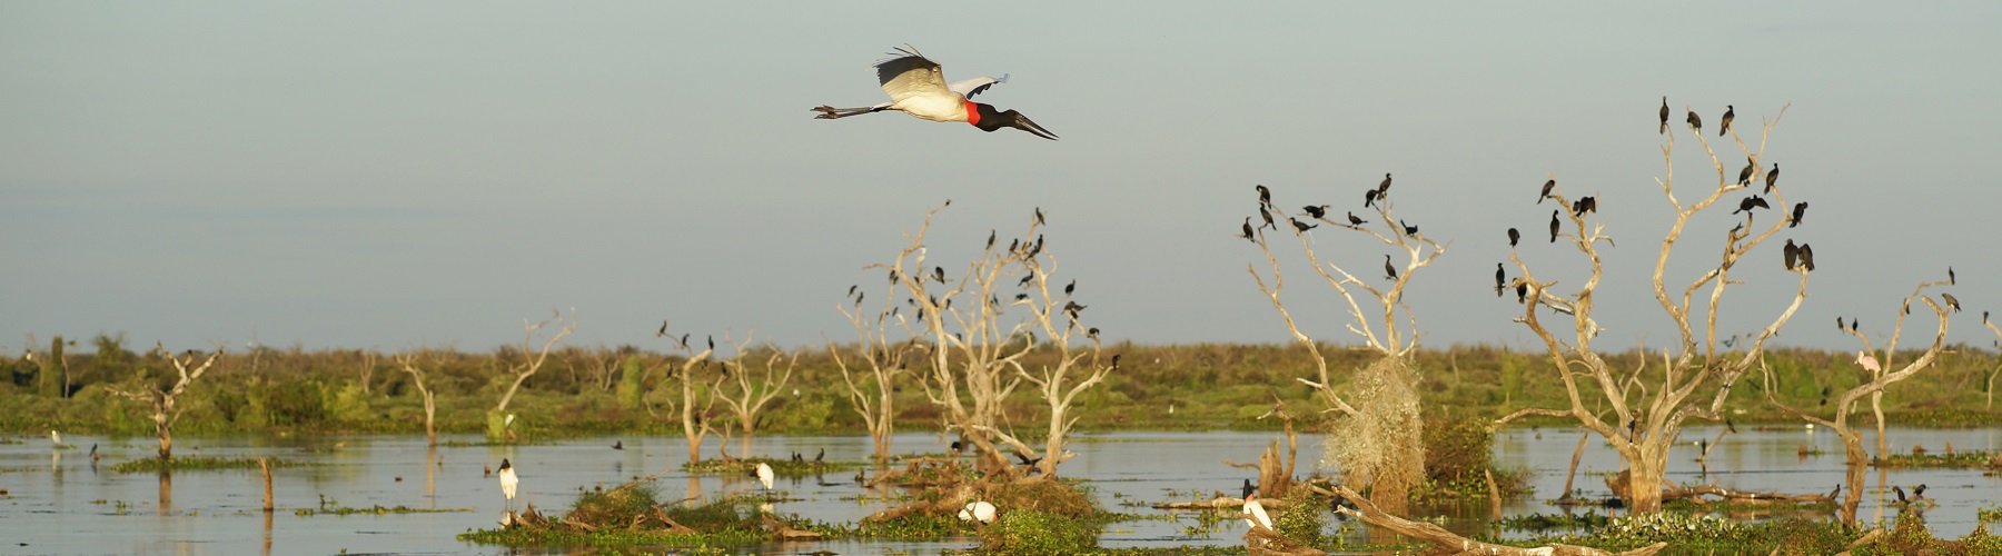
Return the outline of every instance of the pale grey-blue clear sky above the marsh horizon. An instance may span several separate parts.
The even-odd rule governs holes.
[[[1664,94],[1712,140],[1726,104],[1744,130],[1792,104],[1766,160],[1812,202],[1786,236],[1822,270],[1784,344],[1850,346],[1836,316],[1882,340],[1948,264],[1968,306],[1954,340],[1986,346],[1980,310],[2002,308],[2002,4],[905,6],[0,4],[0,348],[124,332],[484,350],[553,306],[577,308],[575,344],[665,348],[661,318],[697,338],[847,340],[833,306],[881,282],[859,268],[945,198],[935,256],[1041,206],[1063,280],[1113,340],[1285,342],[1243,272],[1261,258],[1231,238],[1251,184],[1339,212],[1383,172],[1399,214],[1453,242],[1409,290],[1425,344],[1528,346],[1489,290],[1510,226],[1542,276],[1582,280],[1538,240],[1556,172],[1620,240],[1600,346],[1662,346],[1646,274],[1668,224]],[[881,102],[869,64],[905,42],[947,78],[1013,74],[981,100],[1063,140],[811,118]],[[1706,188],[1706,160],[1678,162],[1684,196]],[[1682,280],[1730,220],[1694,226]],[[1315,240],[1361,274],[1385,252]],[[1726,332],[1764,326],[1792,288],[1778,240],[1762,250],[1734,274]],[[1303,272],[1295,314],[1353,342]]]

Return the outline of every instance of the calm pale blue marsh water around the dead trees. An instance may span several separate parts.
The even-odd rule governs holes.
[[[1716,428],[1692,428],[1686,438],[1716,438]],[[52,450],[48,438],[8,436],[18,444],[0,444],[0,554],[503,554],[500,546],[460,542],[454,536],[496,524],[505,500],[486,466],[511,458],[523,486],[515,500],[537,504],[547,512],[563,512],[579,488],[617,486],[625,480],[675,468],[687,462],[687,442],[679,436],[607,436],[531,446],[438,446],[426,448],[422,436],[328,436],[328,438],[178,438],[180,454],[200,456],[276,456],[312,466],[276,470],[274,490],[278,512],[266,516],[262,478],[256,470],[176,472],[170,480],[156,474],[118,474],[110,466],[152,454],[152,438],[64,436],[72,450]],[[1139,514],[1167,514],[1143,504],[1187,500],[1189,492],[1229,492],[1249,474],[1223,464],[1255,462],[1275,434],[1267,432],[1115,432],[1087,434],[1073,442],[1079,458],[1065,462],[1061,472],[1085,478],[1105,508]],[[446,442],[474,444],[476,436],[454,436]],[[613,442],[625,450],[613,450]],[[1998,450],[1998,430],[1892,430],[1892,446],[1920,444],[1942,450]],[[1504,514],[1558,512],[1546,500],[1564,490],[1578,432],[1570,428],[1508,430],[1495,438],[1493,452],[1504,466],[1536,472],[1538,496],[1508,504]],[[104,460],[92,464],[88,450],[96,444]],[[897,452],[943,452],[937,434],[899,434]],[[1800,448],[1826,452],[1800,456]],[[1866,446],[1874,440],[1866,434]],[[747,446],[733,444],[731,454],[785,458],[791,452],[817,454],[829,460],[863,460],[869,452],[865,436],[755,438]],[[1780,490],[1810,494],[1832,490],[1844,474],[1842,442],[1826,432],[1798,428],[1744,430],[1726,436],[1712,448],[1708,474],[1696,464],[1700,448],[1686,442],[1674,456],[1670,480],[1682,484],[1716,482],[1734,490]],[[705,448],[715,454],[715,442]],[[1319,462],[1321,438],[1303,434],[1299,468],[1307,472]],[[428,462],[428,464],[426,464]],[[1602,476],[1620,470],[1618,456],[1602,440],[1588,442],[1580,464],[1580,496],[1610,496]],[[400,480],[398,480],[400,478]],[[1878,482],[1886,480],[1880,488]],[[1870,498],[1862,506],[1866,520],[1892,520],[1890,484],[1928,484],[1926,496],[1938,508],[1926,512],[1928,524],[1940,536],[1962,536],[1976,526],[1974,512],[2002,500],[2002,480],[1976,470],[1898,470],[1870,472]],[[741,478],[689,476],[669,472],[659,478],[663,500],[707,498],[723,492],[747,492],[755,484]],[[887,508],[881,502],[855,502],[865,494],[851,472],[821,478],[781,478],[777,484],[795,502],[777,504],[779,512],[801,514],[827,522],[853,522]],[[1179,494],[1171,498],[1171,492]],[[470,512],[390,514],[390,516],[296,516],[292,510],[318,508],[322,496],[330,506],[412,506],[470,508]],[[879,492],[877,492],[879,496]],[[1473,508],[1435,508],[1453,516],[1453,530],[1473,530],[1485,524],[1485,504]],[[1604,512],[1604,510],[1598,510]],[[1740,516],[1760,518],[1760,516]],[[1107,528],[1103,546],[1181,546],[1237,544],[1243,524],[1227,520],[1213,530],[1195,528],[1193,514],[1173,514],[1171,520],[1121,522]],[[1357,538],[1359,540],[1359,538]],[[877,554],[907,550],[935,554],[947,548],[967,548],[971,538],[947,542],[819,542],[759,546],[749,552],[799,554],[833,550],[841,554]]]

